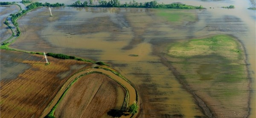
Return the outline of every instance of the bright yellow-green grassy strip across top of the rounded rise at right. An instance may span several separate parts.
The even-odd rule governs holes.
[[[241,49],[237,42],[227,35],[218,35],[205,39],[193,39],[184,43],[174,43],[170,47],[169,55],[175,57],[191,57],[195,55],[218,54],[224,57],[240,59]]]

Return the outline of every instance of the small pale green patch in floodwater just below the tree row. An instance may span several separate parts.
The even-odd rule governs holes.
[[[193,13],[181,12],[176,10],[166,11],[164,9],[158,9],[156,15],[163,17],[164,19],[167,19],[170,22],[182,22],[183,20],[195,22],[197,19],[196,15],[194,15]]]

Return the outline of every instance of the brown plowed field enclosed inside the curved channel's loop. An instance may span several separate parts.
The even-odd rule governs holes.
[[[118,89],[123,90],[120,95]],[[118,95],[119,94],[119,95]],[[90,74],[79,78],[68,90],[56,108],[56,118],[100,118],[110,109],[120,109],[124,100],[124,89],[117,82],[102,74]]]

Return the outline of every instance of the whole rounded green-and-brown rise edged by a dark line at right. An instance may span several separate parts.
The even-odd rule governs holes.
[[[217,35],[172,43],[166,58],[182,82],[202,98],[211,111],[216,111],[213,115],[234,117],[231,111],[247,114],[246,57],[235,37]]]

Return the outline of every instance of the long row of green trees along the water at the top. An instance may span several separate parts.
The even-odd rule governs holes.
[[[130,1],[128,4],[120,4],[118,0],[108,0],[108,1],[99,1],[99,5],[93,5],[92,0],[81,2],[80,0],[76,1],[72,5],[73,7],[132,7],[132,8],[172,8],[172,9],[204,9],[202,5],[200,6],[191,6],[181,3],[172,3],[172,4],[159,4],[157,1],[145,2],[145,3],[138,3],[135,0]]]

